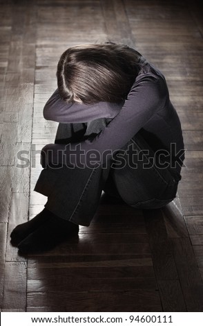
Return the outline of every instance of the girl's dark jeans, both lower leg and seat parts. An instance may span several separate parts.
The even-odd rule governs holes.
[[[68,144],[94,137],[99,131],[98,123],[95,126],[94,130],[92,123],[88,128],[92,133],[86,135],[86,123],[59,123],[55,142]],[[45,207],[50,212],[86,226],[97,211],[102,190],[138,209],[160,208],[175,198],[181,176],[170,167],[163,169],[155,160],[152,164],[152,157],[154,151],[138,132],[108,166],[43,169],[35,191],[48,197]]]

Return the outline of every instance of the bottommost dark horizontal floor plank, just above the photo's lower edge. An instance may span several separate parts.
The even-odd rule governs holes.
[[[122,303],[121,303],[122,302]],[[157,291],[28,293],[28,310],[51,307],[51,311],[162,311]],[[131,309],[130,309],[131,308]]]

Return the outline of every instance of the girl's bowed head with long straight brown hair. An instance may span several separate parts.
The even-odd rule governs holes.
[[[59,94],[85,104],[122,102],[144,65],[142,55],[123,44],[73,46],[57,66]]]

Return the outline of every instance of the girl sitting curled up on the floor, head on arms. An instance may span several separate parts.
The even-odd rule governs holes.
[[[90,225],[101,191],[139,209],[175,198],[184,160],[180,120],[162,73],[122,44],[74,46],[57,67],[45,119],[59,122],[41,152],[35,191],[45,208],[18,225],[22,253],[49,250]]]

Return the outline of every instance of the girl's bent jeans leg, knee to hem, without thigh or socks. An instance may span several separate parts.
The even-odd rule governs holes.
[[[105,119],[104,119],[105,123]],[[91,123],[88,133],[98,131],[98,121]],[[86,123],[59,124],[55,143],[79,141],[86,137]],[[90,225],[108,175],[101,166],[90,169],[59,166],[43,169],[35,191],[48,197],[45,205],[53,214],[77,225]]]

